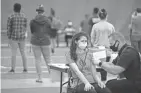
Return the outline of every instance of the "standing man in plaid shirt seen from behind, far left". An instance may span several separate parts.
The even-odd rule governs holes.
[[[25,39],[27,33],[27,18],[21,11],[21,4],[14,4],[14,13],[8,18],[7,22],[7,36],[9,44],[11,46],[11,70],[9,72],[15,72],[16,65],[16,52],[19,47],[22,61],[23,72],[27,72],[27,58],[25,54]]]

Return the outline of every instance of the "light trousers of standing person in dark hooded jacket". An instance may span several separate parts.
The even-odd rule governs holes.
[[[48,64],[51,62],[51,48],[50,45],[47,46],[36,46],[32,45],[32,49],[34,52],[35,57],[35,65],[36,65],[36,71],[37,74],[41,76],[42,70],[41,70],[41,54],[44,57],[44,60],[46,62],[46,66],[48,68],[48,71],[50,72]]]

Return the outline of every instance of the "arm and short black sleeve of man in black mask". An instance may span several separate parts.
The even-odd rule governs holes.
[[[108,62],[101,62],[101,67],[111,74],[120,74],[125,71],[131,64],[134,57],[134,54],[132,54],[132,52],[133,51],[130,49],[124,51],[117,60],[116,65]]]

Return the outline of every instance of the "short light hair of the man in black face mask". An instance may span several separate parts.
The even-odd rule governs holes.
[[[126,42],[124,36],[119,33],[119,32],[114,32],[112,33],[109,38],[112,38],[112,40],[118,40],[118,41],[122,41],[122,42]]]

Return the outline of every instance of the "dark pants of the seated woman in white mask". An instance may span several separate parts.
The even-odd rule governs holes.
[[[84,91],[85,84],[80,84],[77,87],[76,93],[112,93],[108,88],[100,88],[98,84],[92,83],[95,89],[91,89],[90,91]]]

